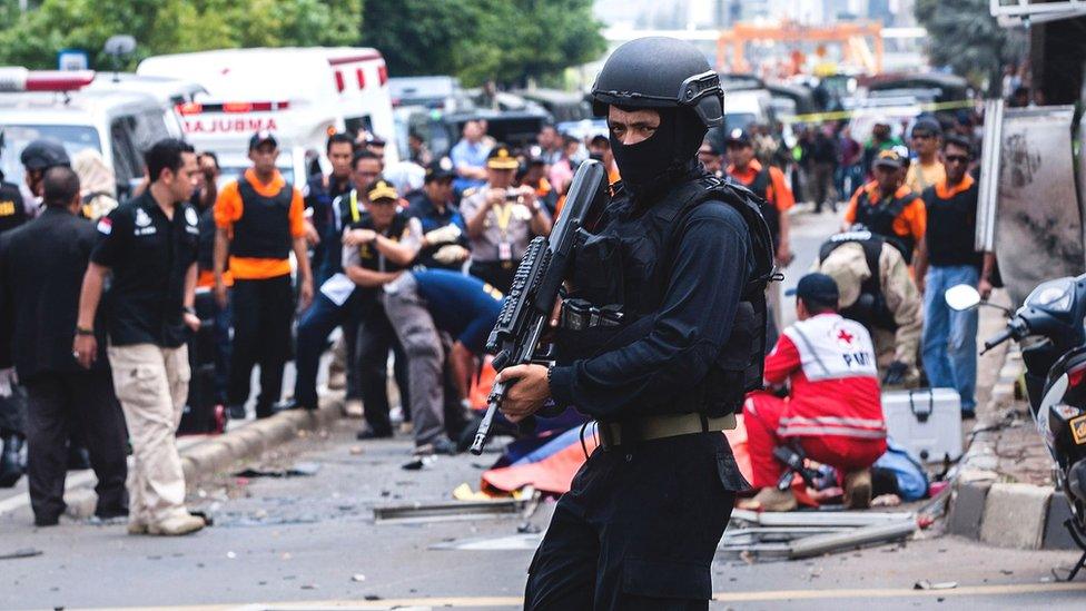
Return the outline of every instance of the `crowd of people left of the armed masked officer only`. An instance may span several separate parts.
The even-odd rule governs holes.
[[[146,154],[145,184],[124,205],[103,164],[69,159],[51,140],[28,146],[26,189],[6,183],[0,206],[11,213],[0,219],[0,484],[26,471],[46,526],[65,511],[66,471],[90,466],[99,518],[127,515],[134,533],[199,530],[174,443],[185,410],[221,404],[243,420],[317,408],[337,327],[345,408],[365,417],[358,437],[394,433],[392,353],[416,453],[457,452],[501,288],[561,209],[549,177],[567,187],[574,169],[483,129],[468,122],[452,157],[422,151],[418,188],[385,175],[374,137],[330,136],[330,171],[300,188],[276,169],[272,132],[251,136],[251,167],[227,181],[214,151],[167,139]]]

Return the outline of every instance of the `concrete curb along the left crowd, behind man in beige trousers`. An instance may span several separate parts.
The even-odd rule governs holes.
[[[226,471],[235,463],[256,459],[269,449],[295,438],[302,431],[325,427],[342,417],[342,410],[343,393],[329,393],[320,397],[319,410],[280,412],[184,447],[179,454],[185,484],[191,489],[201,480]],[[98,495],[89,487],[69,490],[65,493],[65,503],[68,505],[66,513],[76,519],[90,518],[95,514],[97,500]]]

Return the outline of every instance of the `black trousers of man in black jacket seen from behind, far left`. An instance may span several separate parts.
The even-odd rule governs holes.
[[[102,516],[126,513],[128,433],[109,369],[39,373],[23,384],[30,402],[27,475],[34,516],[48,520],[65,511],[68,434],[73,424],[82,432],[90,464],[98,476],[95,513]]]

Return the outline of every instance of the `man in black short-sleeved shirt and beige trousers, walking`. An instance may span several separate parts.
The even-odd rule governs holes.
[[[174,436],[188,396],[186,339],[199,327],[192,309],[199,216],[188,204],[198,168],[192,147],[172,138],[145,160],[147,189],[98,221],[101,240],[83,276],[73,356],[85,367],[95,359],[95,314],[111,274],[107,354],[135,457],[128,532],[178,535],[205,525],[185,509]]]

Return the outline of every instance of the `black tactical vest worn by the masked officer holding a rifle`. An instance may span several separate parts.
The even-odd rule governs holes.
[[[766,354],[766,286],[773,277],[772,238],[758,209],[757,198],[742,186],[708,174],[675,186],[643,214],[614,186],[614,199],[598,224],[598,234],[582,231],[574,264],[571,297],[596,306],[621,305],[616,327],[559,333],[560,361],[588,358],[648,336],[665,298],[669,270],[679,244],[683,217],[705,201],[724,203],[742,215],[750,231],[754,266],[749,275],[732,326],[715,362],[702,380],[675,388],[668,407],[677,413],[698,412],[709,417],[735,413],[746,394],[761,388]],[[667,412],[656,408],[654,412]]]

